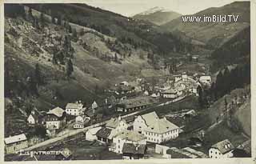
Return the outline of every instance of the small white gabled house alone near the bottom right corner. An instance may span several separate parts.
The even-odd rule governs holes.
[[[226,139],[222,142],[215,143],[209,149],[210,158],[231,158],[233,157],[234,146]]]

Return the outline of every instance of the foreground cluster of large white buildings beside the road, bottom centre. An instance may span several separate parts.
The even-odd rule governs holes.
[[[124,159],[143,158],[146,143],[162,143],[178,138],[179,127],[155,112],[139,115],[130,124],[125,119],[111,118],[95,134],[99,142],[109,145],[109,150],[122,154]]]

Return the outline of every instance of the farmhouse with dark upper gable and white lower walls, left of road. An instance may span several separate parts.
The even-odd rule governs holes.
[[[56,107],[46,113],[46,128],[60,129],[66,123],[66,112],[60,107]]]

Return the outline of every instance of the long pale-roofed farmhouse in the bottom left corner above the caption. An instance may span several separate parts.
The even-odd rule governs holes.
[[[28,147],[28,141],[25,134],[18,134],[4,139],[6,154],[14,154],[18,150]]]

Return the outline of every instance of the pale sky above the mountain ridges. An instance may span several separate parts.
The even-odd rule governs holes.
[[[209,7],[224,6],[234,1],[241,0],[85,0],[90,6],[100,7],[124,16],[149,10],[155,6],[172,10],[179,14],[195,14]]]

